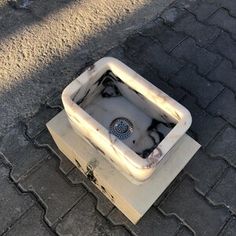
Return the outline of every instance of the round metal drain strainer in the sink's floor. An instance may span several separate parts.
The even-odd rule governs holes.
[[[120,140],[124,140],[133,133],[133,124],[127,118],[119,117],[111,122],[109,131]]]

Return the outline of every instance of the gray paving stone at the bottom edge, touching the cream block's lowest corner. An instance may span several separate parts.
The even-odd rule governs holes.
[[[108,216],[109,220],[115,225],[124,225],[135,235],[175,235],[181,224],[174,216],[165,216],[160,211],[151,207],[141,220],[132,224],[117,208]]]

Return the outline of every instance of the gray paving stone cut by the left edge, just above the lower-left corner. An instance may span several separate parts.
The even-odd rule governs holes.
[[[21,194],[9,180],[9,168],[0,163],[0,234],[10,228],[33,204],[33,200]]]

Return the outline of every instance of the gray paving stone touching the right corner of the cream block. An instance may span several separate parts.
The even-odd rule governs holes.
[[[223,160],[210,158],[202,150],[199,150],[184,171],[195,179],[196,188],[206,195],[227,167],[228,165]]]

